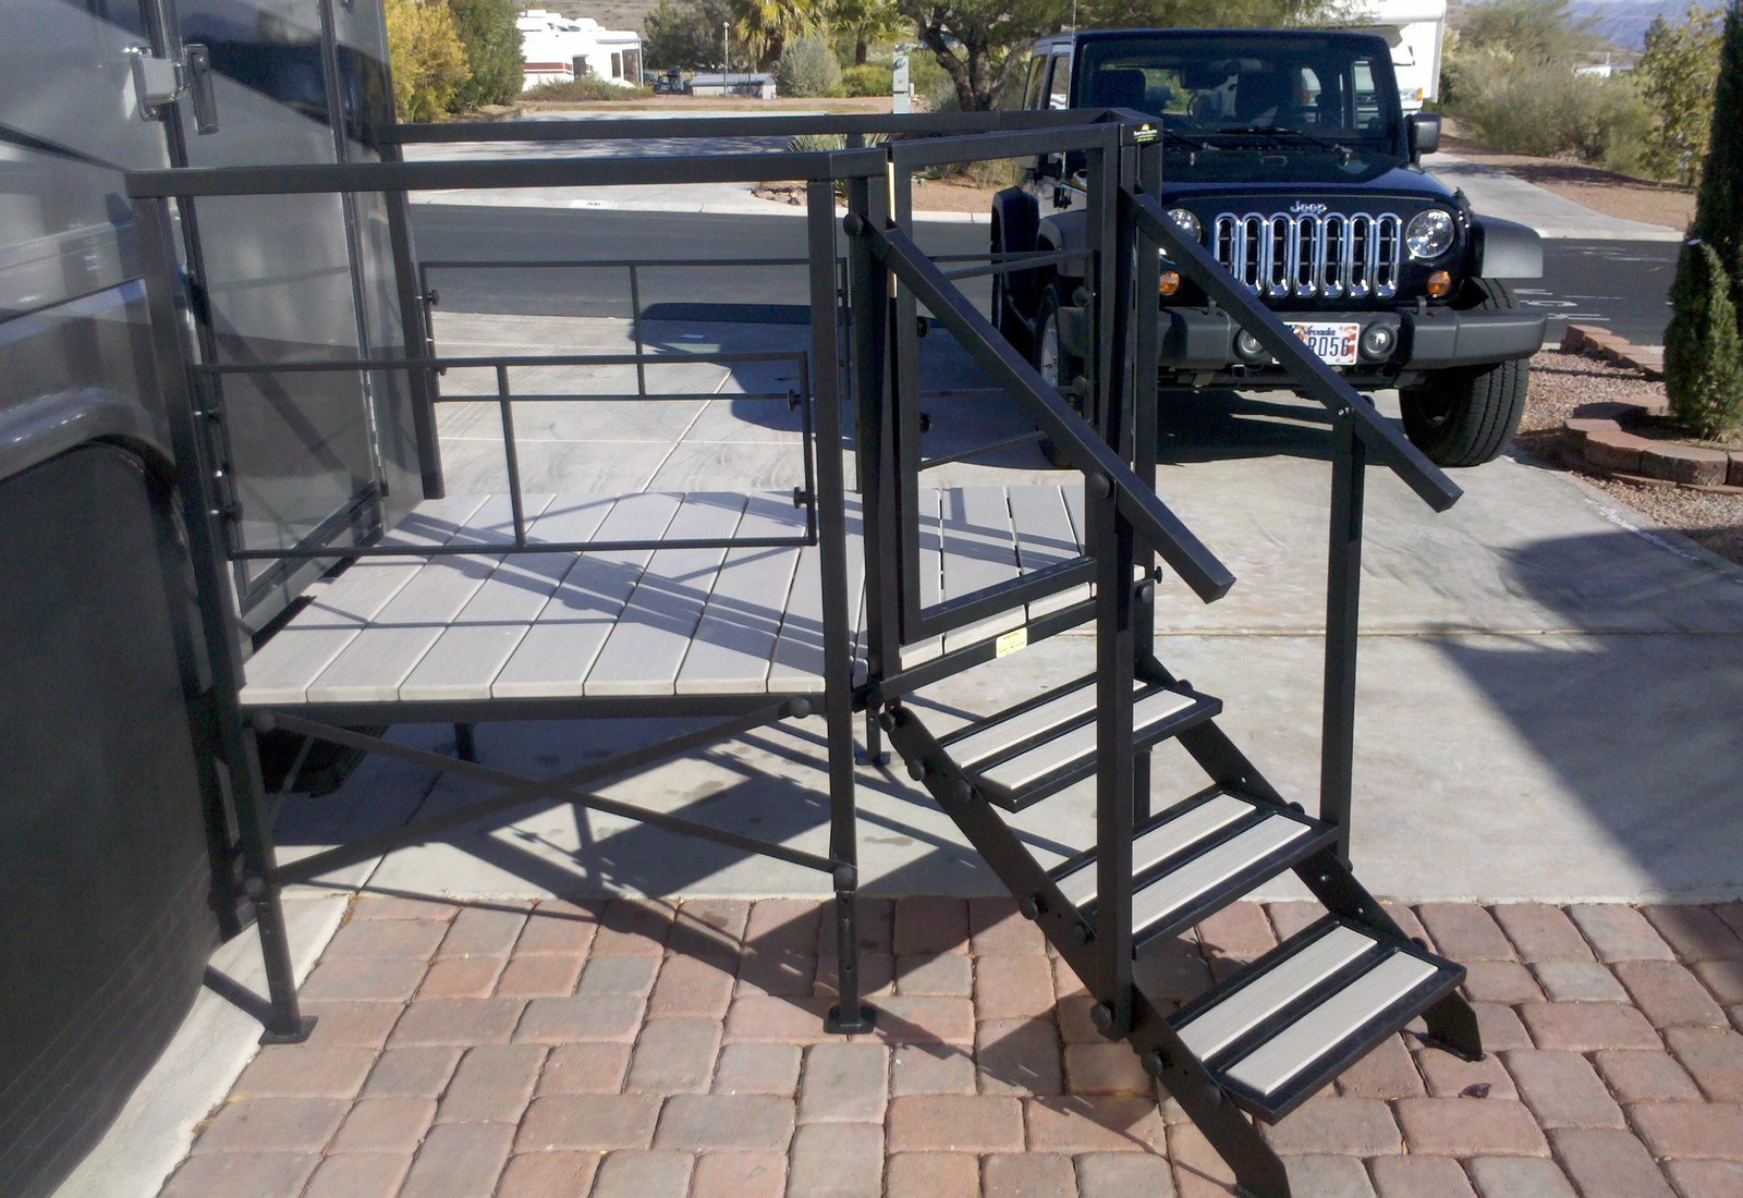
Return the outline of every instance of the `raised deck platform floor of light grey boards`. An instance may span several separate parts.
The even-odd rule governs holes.
[[[1082,554],[1082,489],[924,488],[927,602]],[[805,531],[786,493],[528,495],[530,542],[776,540]],[[512,538],[505,495],[427,500],[385,545],[479,554],[361,557],[312,594],[246,663],[244,707],[810,695],[823,691],[816,545],[490,552]],[[863,641],[865,545],[847,503],[849,596]],[[908,646],[919,663],[1075,599]],[[863,646],[861,646],[863,651]]]

